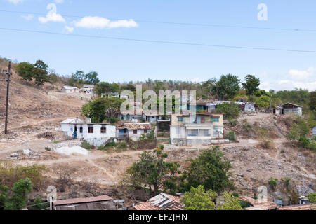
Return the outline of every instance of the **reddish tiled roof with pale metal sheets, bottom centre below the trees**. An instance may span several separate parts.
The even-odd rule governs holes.
[[[160,193],[147,202],[140,202],[134,208],[136,210],[183,210],[184,205],[180,203],[180,197]]]

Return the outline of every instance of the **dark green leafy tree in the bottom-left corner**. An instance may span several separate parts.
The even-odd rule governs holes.
[[[21,179],[14,183],[11,196],[6,201],[5,210],[20,210],[27,207],[29,198],[27,194],[32,191],[31,179]]]

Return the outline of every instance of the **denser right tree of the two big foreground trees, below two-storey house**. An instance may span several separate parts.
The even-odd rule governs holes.
[[[190,159],[190,166],[187,167],[186,189],[192,186],[203,185],[206,190],[221,192],[225,188],[232,188],[233,182],[230,180],[230,162],[223,158],[224,153],[219,146],[212,146],[202,152],[196,159]]]

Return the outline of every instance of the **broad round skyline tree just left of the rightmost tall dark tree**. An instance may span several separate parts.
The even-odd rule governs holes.
[[[231,74],[220,76],[213,92],[216,92],[219,99],[232,99],[240,90],[239,83],[237,76]]]

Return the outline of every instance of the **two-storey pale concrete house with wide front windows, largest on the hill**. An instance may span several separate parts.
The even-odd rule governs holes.
[[[223,138],[223,114],[196,113],[173,114],[171,116],[170,138],[172,144],[208,145],[212,139]]]

